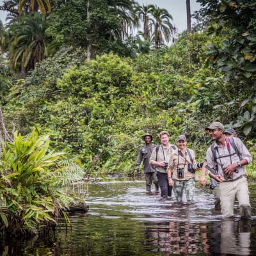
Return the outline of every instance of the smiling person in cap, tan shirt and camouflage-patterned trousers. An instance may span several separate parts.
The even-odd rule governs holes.
[[[186,194],[188,203],[194,202],[195,197],[195,170],[189,171],[189,164],[195,164],[195,153],[186,147],[187,138],[179,135],[177,138],[178,148],[171,154],[167,174],[170,186],[173,186],[173,193],[176,202],[182,202],[183,193]]]

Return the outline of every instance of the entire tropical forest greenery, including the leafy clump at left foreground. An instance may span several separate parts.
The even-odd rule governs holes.
[[[134,175],[145,132],[186,134],[203,161],[218,121],[255,158],[256,1],[186,2],[177,33],[164,6],[134,0],[3,1],[1,234],[68,223],[70,184]]]

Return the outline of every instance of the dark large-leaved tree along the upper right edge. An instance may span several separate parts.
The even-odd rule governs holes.
[[[239,106],[239,115],[230,120],[233,127],[243,127],[244,134],[255,129],[256,113],[256,1],[205,1],[202,16],[208,17],[209,33],[225,35],[221,45],[212,42],[207,53],[232,84],[233,95],[227,106]]]

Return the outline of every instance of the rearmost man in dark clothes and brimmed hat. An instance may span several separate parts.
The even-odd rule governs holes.
[[[138,158],[136,161],[136,170],[140,172],[140,164],[143,161],[143,172],[145,173],[145,182],[147,193],[151,192],[152,182],[156,186],[156,193],[158,192],[159,186],[156,177],[156,169],[149,163],[150,156],[156,145],[152,144],[152,135],[145,133],[142,136],[142,140],[145,141],[145,144],[140,148]]]

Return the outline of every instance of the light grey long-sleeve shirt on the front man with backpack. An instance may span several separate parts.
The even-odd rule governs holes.
[[[212,150],[216,150],[216,162],[217,169],[216,172],[212,172],[214,174],[219,174],[221,177],[224,177],[223,170],[232,163],[237,163],[241,161],[241,159],[245,159],[248,164],[252,162],[252,156],[248,149],[245,147],[244,143],[239,138],[234,138],[234,143],[239,151],[239,155],[237,156],[236,150],[230,144],[230,152],[228,151],[227,143],[225,141],[225,147],[221,148],[217,143],[214,143],[213,148],[209,147],[206,153],[206,161],[209,168],[212,170],[216,169],[216,164],[214,163],[214,156],[212,154]],[[232,179],[237,179],[239,176],[244,175],[246,172],[244,166],[237,166],[237,172],[234,172],[232,175]]]

